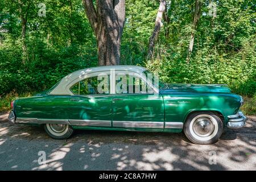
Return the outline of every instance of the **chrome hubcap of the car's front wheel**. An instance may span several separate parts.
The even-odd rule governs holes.
[[[214,131],[214,125],[210,118],[200,117],[193,123],[193,131],[200,137],[208,137]]]

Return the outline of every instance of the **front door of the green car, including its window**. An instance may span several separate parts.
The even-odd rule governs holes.
[[[112,97],[113,127],[163,131],[163,98],[155,93],[146,81],[147,79],[138,73],[115,72],[115,94]]]

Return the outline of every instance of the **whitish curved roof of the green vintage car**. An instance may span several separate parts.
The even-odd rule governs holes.
[[[66,90],[67,85],[69,85],[72,81],[76,80],[76,78],[85,76],[89,73],[93,72],[104,72],[104,71],[131,71],[136,72],[138,74],[142,74],[147,69],[144,67],[139,67],[135,65],[112,65],[112,66],[101,66],[101,67],[92,67],[92,68],[85,68],[80,69],[79,71],[75,71],[70,73],[69,75],[63,77],[59,84],[51,90],[49,94],[69,94]]]

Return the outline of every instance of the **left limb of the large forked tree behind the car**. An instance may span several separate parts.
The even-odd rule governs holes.
[[[95,7],[93,5],[93,1],[92,0],[83,0],[83,2],[84,2],[83,4],[84,4],[86,16],[89,19],[90,26],[93,28],[93,31],[96,35],[98,23],[97,23],[97,14],[96,14]]]

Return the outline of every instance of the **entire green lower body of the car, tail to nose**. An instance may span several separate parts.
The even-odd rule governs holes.
[[[157,93],[84,96],[49,94],[53,89],[15,100],[15,118],[35,119],[23,123],[39,125],[40,121],[63,121],[74,129],[178,133],[195,111],[215,111],[226,126],[242,100],[224,85],[169,84]]]

